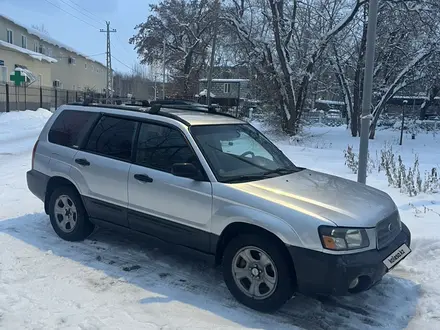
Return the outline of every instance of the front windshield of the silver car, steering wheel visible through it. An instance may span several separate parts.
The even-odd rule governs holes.
[[[190,130],[220,182],[261,180],[299,171],[251,125],[202,125]]]

